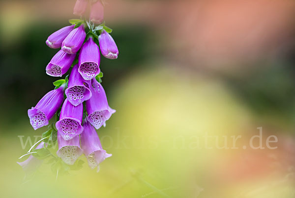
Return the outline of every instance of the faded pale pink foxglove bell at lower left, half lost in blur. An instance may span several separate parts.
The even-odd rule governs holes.
[[[44,148],[44,142],[41,142],[36,149]],[[23,170],[26,172],[27,175],[34,173],[35,170],[42,164],[43,160],[39,160],[32,155],[23,162],[17,162]]]

